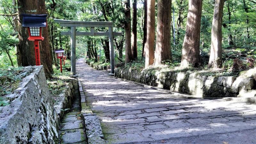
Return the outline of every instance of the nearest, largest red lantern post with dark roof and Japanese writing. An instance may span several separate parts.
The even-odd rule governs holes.
[[[43,41],[42,27],[47,26],[46,14],[35,15],[35,14],[23,14],[22,27],[28,27],[28,40],[34,41],[36,66],[40,66],[40,50],[39,41]]]

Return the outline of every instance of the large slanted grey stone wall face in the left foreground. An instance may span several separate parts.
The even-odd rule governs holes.
[[[26,68],[34,70],[7,95],[12,99],[10,105],[0,107],[0,143],[58,143],[56,111],[44,68]]]

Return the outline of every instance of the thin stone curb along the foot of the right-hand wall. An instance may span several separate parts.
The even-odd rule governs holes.
[[[169,92],[169,93],[172,93],[172,94],[179,94],[179,96],[184,97],[184,98],[189,98],[189,99],[209,99],[209,100],[224,99],[224,100],[227,100],[227,101],[234,100],[234,101],[249,102],[249,103],[255,103],[255,104],[256,104],[256,97],[250,97],[250,98],[236,98],[236,97],[226,97],[226,98],[204,97],[204,98],[201,98],[201,97],[196,97],[196,96],[193,96],[193,95],[187,95],[187,94],[182,94],[182,93],[178,93],[178,92],[172,92],[172,91],[170,91],[170,90],[165,90],[165,89],[163,89],[163,88],[158,88],[158,87],[151,86],[151,85],[147,85],[147,84],[141,84],[141,83],[134,82],[134,81],[130,81],[130,80],[126,80],[126,79],[123,79],[123,78],[118,78],[118,77],[114,77],[114,78],[120,79],[120,80],[122,80],[122,81],[127,81],[127,82],[131,82],[131,83],[139,84],[139,85],[141,85],[141,86],[148,87],[148,88],[152,88],[152,89],[155,89],[155,90],[158,90],[158,91]]]

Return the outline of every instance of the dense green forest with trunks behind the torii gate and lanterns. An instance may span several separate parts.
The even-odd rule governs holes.
[[[28,8],[26,4],[29,2],[44,3],[46,9],[42,10],[44,6]],[[60,31],[69,31],[70,27],[61,27],[53,19],[112,21],[114,31],[123,32],[123,36],[114,37],[117,63],[135,61],[143,64],[146,61],[147,67],[153,65],[155,59],[154,66],[179,66],[181,63],[181,66],[225,69],[234,69],[236,65],[237,70],[254,67],[255,0],[203,0],[202,3],[195,0],[0,0],[0,7],[0,69],[27,66],[22,57],[33,55],[32,43],[26,42],[26,47],[20,47],[21,39],[27,41],[22,37],[26,36],[26,31],[19,26],[20,12],[48,14],[48,27],[44,29],[48,31],[44,36],[48,37],[48,42],[42,44],[48,44],[47,51],[50,52],[42,53],[52,61],[47,64],[49,73],[52,72],[49,67],[58,65],[54,49],[65,49],[70,59],[70,37],[60,35]],[[197,17],[190,13],[192,11],[196,12]],[[155,23],[152,23],[153,20]],[[89,28],[76,30],[89,31]],[[95,31],[107,30],[95,28]],[[188,34],[189,31],[191,34]],[[221,44],[214,45],[216,40],[212,40],[213,36],[221,34]],[[147,43],[147,40],[151,43]],[[195,44],[187,44],[188,40],[195,40]],[[100,61],[109,62],[108,37],[77,36],[76,43],[77,58],[87,56],[97,61],[97,55],[101,55]],[[215,46],[218,51],[211,51],[211,47]],[[22,49],[31,50],[22,53]],[[212,56],[212,52],[219,53]],[[193,60],[189,60],[189,57]],[[217,66],[211,60],[213,63],[218,61]]]

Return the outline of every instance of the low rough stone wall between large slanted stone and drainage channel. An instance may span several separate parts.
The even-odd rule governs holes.
[[[60,120],[63,118],[65,109],[72,107],[72,100],[75,96],[75,84],[78,83],[77,79],[72,79],[65,87],[65,90],[59,95],[61,100],[54,103],[54,108],[56,110],[56,124],[59,128]]]

